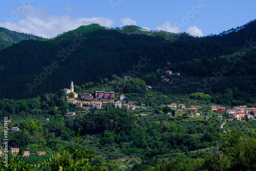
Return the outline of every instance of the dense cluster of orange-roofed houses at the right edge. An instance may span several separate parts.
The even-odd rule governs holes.
[[[242,120],[243,118],[253,119],[253,115],[256,115],[256,106],[253,106],[253,108],[247,108],[246,105],[240,105],[229,110],[226,110],[226,108],[222,108],[221,106],[211,106],[210,110],[231,114],[232,118],[226,120]],[[251,115],[251,112],[253,112],[253,115]],[[219,114],[218,117],[222,118],[222,115]]]

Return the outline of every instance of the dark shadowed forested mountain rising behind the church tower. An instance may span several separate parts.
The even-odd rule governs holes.
[[[33,97],[68,88],[71,80],[81,86],[110,78],[111,74],[141,77],[164,68],[167,61],[175,70],[184,70],[183,74],[196,74],[195,68],[202,74],[205,68],[201,66],[207,66],[204,62],[241,51],[246,40],[256,39],[255,30],[248,29],[254,23],[202,38],[137,26],[109,29],[92,24],[49,40],[22,41],[0,51],[0,97]],[[193,63],[196,65],[191,72]],[[196,76],[208,76],[200,74]]]

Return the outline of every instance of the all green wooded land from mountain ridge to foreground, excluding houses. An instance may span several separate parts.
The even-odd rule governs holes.
[[[255,39],[256,20],[204,37],[91,24],[44,39],[0,28],[0,135],[19,148],[0,170],[256,170],[255,118],[210,111],[255,105]],[[63,91],[71,81],[76,100],[114,91],[135,110],[77,108]],[[200,116],[172,103],[200,105]]]

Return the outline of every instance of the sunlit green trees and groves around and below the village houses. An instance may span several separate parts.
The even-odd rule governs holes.
[[[210,95],[181,96],[163,90],[147,90],[145,86],[143,79],[131,77],[75,86],[79,94],[115,91],[115,100],[125,94],[124,102],[134,103],[134,111],[115,109],[111,105],[102,109],[76,108],[67,102],[63,90],[31,99],[0,100],[0,117],[11,119],[8,127],[20,129],[8,132],[9,148],[19,148],[20,153],[9,153],[8,169],[3,162],[0,168],[255,170],[255,121],[227,121],[228,133],[224,133],[221,129],[224,119],[217,118],[216,111],[209,111],[209,106],[216,105]],[[170,109],[168,104],[173,102],[201,105],[198,112],[212,117],[191,118],[193,113]],[[68,117],[67,112],[76,112],[76,115]],[[167,115],[168,112],[173,116]],[[223,116],[229,118],[225,113]],[[3,124],[1,120],[2,135]],[[3,139],[0,141],[4,143]],[[24,157],[24,151],[30,151],[30,156]],[[46,155],[37,156],[38,151]]]

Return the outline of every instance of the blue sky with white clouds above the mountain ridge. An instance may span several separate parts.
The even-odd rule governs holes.
[[[12,0],[0,16],[0,27],[48,38],[91,23],[206,36],[256,19],[256,1]]]

